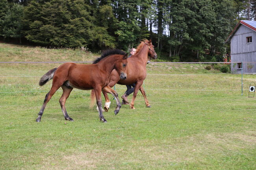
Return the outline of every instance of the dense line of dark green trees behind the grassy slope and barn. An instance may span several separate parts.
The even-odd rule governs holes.
[[[160,58],[221,61],[256,0],[0,0],[0,37],[55,48],[128,51],[151,39]]]

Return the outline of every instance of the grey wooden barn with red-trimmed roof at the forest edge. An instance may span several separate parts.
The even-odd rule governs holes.
[[[241,20],[226,40],[230,43],[231,71],[256,73],[256,21]]]

